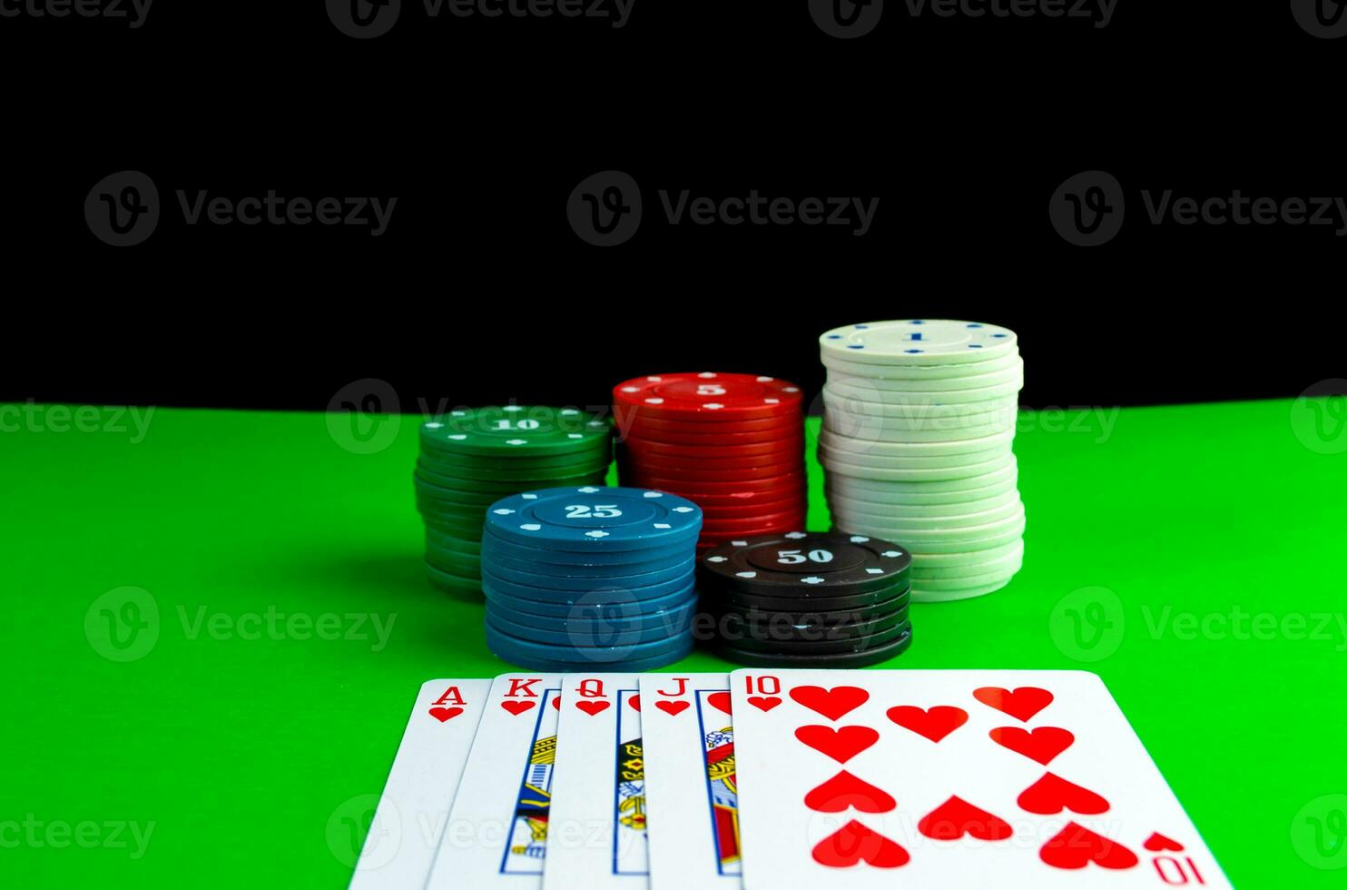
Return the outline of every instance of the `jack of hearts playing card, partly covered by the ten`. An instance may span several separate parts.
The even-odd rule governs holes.
[[[727,674],[644,674],[651,890],[740,886],[740,809]]]

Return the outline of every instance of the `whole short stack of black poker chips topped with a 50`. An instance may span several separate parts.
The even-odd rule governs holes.
[[[792,531],[729,541],[698,564],[713,649],[752,666],[863,668],[912,643],[912,557],[865,535]]]

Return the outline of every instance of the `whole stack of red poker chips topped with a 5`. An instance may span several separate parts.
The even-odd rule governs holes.
[[[804,398],[752,374],[664,374],[613,387],[618,475],[703,512],[698,546],[804,527]]]

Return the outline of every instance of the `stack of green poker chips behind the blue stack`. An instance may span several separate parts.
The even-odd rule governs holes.
[[[416,508],[431,583],[480,591],[486,507],[529,488],[602,485],[610,463],[612,427],[575,409],[463,409],[422,423]]]

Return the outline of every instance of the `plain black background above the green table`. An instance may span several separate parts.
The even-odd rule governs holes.
[[[0,19],[0,59],[4,400],[323,409],[379,378],[404,410],[593,405],[629,376],[707,368],[816,390],[822,330],[898,317],[1016,329],[1029,406],[1347,376],[1347,239],[1156,227],[1140,200],[1347,196],[1347,39],[1312,38],[1282,1],[1118,0],[1095,28],[888,0],[872,34],[841,40],[806,0],[634,0],[621,30],[432,19],[404,0],[389,34],[357,40],[321,0],[158,0],[137,30]],[[564,208],[610,169],[645,214],[605,249]],[[1079,248],[1047,206],[1092,169],[1122,182],[1127,221]],[[84,221],[119,170],[163,202],[137,247]],[[374,239],[189,227],[176,189],[399,201]],[[669,227],[661,189],[880,206],[865,237]]]

